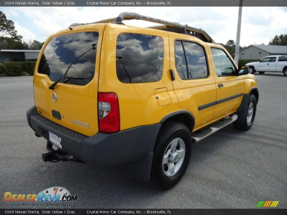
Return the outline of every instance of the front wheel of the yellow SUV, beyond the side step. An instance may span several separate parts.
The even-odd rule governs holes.
[[[245,121],[243,123],[233,122],[233,126],[239,130],[248,130],[251,128],[256,114],[256,105],[257,101],[255,96],[250,94]]]

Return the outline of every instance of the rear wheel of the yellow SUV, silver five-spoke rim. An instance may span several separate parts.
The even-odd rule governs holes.
[[[191,133],[183,124],[162,125],[155,142],[150,183],[155,188],[172,188],[184,175],[191,156]]]

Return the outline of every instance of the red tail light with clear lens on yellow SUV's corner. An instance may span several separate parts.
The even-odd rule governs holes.
[[[98,94],[99,130],[112,133],[120,130],[120,111],[116,93]]]

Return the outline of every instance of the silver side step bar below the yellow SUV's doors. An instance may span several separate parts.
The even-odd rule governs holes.
[[[213,124],[211,124],[209,127],[204,128],[202,130],[196,131],[192,133],[192,142],[199,142],[202,139],[210,136],[211,134],[215,133],[216,131],[224,128],[225,126],[231,124],[237,119],[237,114],[233,114],[229,118],[223,118]]]

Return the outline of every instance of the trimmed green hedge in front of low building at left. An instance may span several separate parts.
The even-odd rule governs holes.
[[[36,61],[27,62],[2,62],[0,74],[5,76],[33,75]]]

